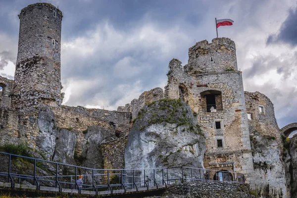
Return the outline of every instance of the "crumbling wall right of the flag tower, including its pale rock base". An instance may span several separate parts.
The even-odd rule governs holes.
[[[273,103],[259,92],[245,92],[245,98],[247,113],[250,114],[248,128],[256,190],[265,198],[288,198],[285,167],[281,160],[283,143]]]

